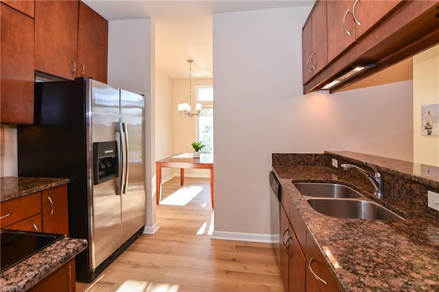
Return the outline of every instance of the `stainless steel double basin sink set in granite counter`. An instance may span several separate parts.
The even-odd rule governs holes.
[[[342,184],[297,182],[294,186],[317,212],[337,218],[403,220],[388,208]]]

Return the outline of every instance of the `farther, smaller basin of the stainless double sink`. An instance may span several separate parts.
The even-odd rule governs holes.
[[[309,197],[361,197],[361,194],[342,184],[326,184],[320,182],[297,182],[294,184],[302,195]]]

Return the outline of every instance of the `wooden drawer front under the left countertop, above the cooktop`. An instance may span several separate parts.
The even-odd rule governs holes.
[[[0,227],[40,214],[41,193],[33,193],[1,203]]]

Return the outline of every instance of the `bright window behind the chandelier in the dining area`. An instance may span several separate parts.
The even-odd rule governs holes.
[[[213,153],[213,87],[195,86],[195,98],[202,104],[197,120],[197,138],[206,145],[203,153]]]

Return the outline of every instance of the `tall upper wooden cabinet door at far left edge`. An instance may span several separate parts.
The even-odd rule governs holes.
[[[0,123],[33,123],[34,19],[1,3],[0,29]]]

